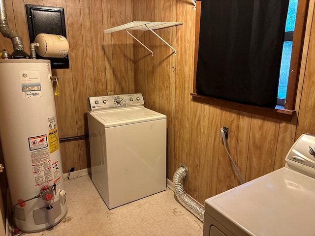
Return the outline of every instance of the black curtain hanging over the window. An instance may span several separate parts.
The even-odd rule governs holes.
[[[197,94],[274,108],[289,0],[202,0]]]

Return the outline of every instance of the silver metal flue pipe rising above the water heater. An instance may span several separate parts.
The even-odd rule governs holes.
[[[23,51],[24,46],[20,35],[9,28],[6,16],[5,0],[0,0],[0,32],[6,38],[11,39],[14,51]]]

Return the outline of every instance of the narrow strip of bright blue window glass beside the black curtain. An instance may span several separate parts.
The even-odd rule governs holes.
[[[282,51],[281,67],[280,67],[280,78],[278,88],[278,105],[284,106],[286,97],[287,81],[289,78],[290,60],[293,43],[293,32],[296,20],[298,0],[290,0],[289,8],[287,12],[285,34],[284,34],[284,46]]]

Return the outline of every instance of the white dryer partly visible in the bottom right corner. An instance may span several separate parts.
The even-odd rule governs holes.
[[[203,236],[314,236],[314,155],[303,134],[284,168],[207,199]]]

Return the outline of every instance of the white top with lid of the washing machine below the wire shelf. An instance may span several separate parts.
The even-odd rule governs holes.
[[[136,122],[165,119],[166,116],[145,107],[117,109],[94,113],[105,127],[113,127]]]

